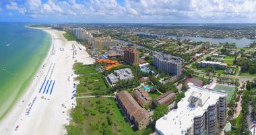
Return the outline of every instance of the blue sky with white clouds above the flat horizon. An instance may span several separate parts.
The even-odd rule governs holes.
[[[256,0],[0,0],[0,21],[256,23]]]

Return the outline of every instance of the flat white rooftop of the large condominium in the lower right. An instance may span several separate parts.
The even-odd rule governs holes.
[[[177,109],[172,109],[164,117],[156,121],[156,130],[164,135],[183,135],[193,126],[193,119],[202,116],[210,105],[215,105],[226,93],[197,87],[191,83],[185,97],[178,103]],[[190,103],[194,101],[194,103]]]

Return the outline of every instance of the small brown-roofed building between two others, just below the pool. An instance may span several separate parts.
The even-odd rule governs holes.
[[[136,89],[133,91],[133,96],[141,107],[145,107],[146,104],[150,105],[152,103],[152,98],[148,95],[148,92],[143,89]]]

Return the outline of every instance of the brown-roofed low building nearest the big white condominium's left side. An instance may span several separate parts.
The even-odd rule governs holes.
[[[166,93],[163,93],[162,95],[154,99],[154,103],[157,106],[169,105],[170,103],[172,103],[172,101],[174,101],[175,97],[176,97],[175,93],[172,93],[172,91],[166,91]]]

